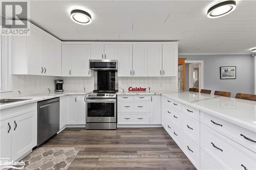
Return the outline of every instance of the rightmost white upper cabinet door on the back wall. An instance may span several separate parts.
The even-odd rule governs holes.
[[[177,77],[178,74],[178,45],[163,44],[163,76]]]

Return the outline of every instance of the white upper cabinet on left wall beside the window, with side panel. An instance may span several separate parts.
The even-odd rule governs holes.
[[[60,40],[30,24],[30,36],[11,37],[12,74],[61,75]]]

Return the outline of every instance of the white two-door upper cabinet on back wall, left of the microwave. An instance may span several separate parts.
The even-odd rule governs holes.
[[[62,44],[62,76],[88,77],[90,44]]]

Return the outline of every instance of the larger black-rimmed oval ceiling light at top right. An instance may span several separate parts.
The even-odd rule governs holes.
[[[225,16],[235,10],[237,7],[236,1],[222,1],[211,6],[207,11],[207,17],[218,18]]]

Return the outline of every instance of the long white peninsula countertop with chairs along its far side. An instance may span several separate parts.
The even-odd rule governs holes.
[[[256,102],[188,91],[162,95],[256,132]]]

